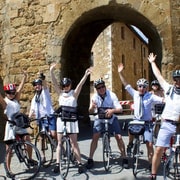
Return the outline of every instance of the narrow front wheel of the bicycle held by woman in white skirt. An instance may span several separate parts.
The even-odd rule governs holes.
[[[60,174],[63,179],[66,178],[68,175],[69,171],[69,164],[70,164],[70,144],[69,140],[66,137],[62,138],[62,143],[61,143],[61,151],[60,151]]]

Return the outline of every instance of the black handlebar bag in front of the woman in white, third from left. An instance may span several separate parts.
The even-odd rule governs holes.
[[[67,119],[77,119],[77,108],[71,106],[61,106],[62,117]]]

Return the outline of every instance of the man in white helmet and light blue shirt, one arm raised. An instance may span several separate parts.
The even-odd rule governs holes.
[[[151,170],[152,165],[152,157],[154,153],[153,149],[153,121],[152,121],[152,113],[151,106],[154,102],[163,102],[163,98],[156,96],[150,92],[148,92],[149,82],[140,78],[137,84],[137,90],[132,88],[132,86],[126,81],[122,71],[124,66],[122,63],[118,65],[118,73],[122,84],[128,93],[133,97],[134,101],[134,120],[145,121],[145,132],[144,132],[144,141],[147,147],[147,156],[149,160],[149,170]],[[133,139],[134,136],[129,134],[129,144],[127,146],[127,154],[130,156],[131,149],[133,147]]]

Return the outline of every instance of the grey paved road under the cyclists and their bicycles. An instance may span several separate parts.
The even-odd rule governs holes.
[[[122,125],[124,119],[128,122],[131,119],[131,116],[123,116],[119,118],[119,122]],[[122,131],[123,139],[125,144],[128,143],[128,136],[127,130]],[[91,142],[91,127],[89,128],[81,128],[79,134],[79,146],[82,155],[82,161],[86,163],[88,154],[89,154],[89,147]],[[114,154],[118,157],[119,151],[115,142],[114,138],[111,138],[111,146]],[[5,176],[5,171],[3,167],[3,159],[4,159],[4,152],[5,147],[4,144],[0,144],[0,180],[8,179]],[[146,148],[143,145],[144,155],[146,155]],[[99,146],[95,152],[94,160],[95,160],[95,167],[92,170],[87,170],[83,174],[78,174],[77,168],[74,166],[70,167],[70,172],[67,176],[67,180],[105,180],[105,179],[112,179],[112,180],[134,180],[134,176],[132,174],[132,163],[131,159],[129,159],[129,169],[123,169],[121,167],[121,159],[115,159],[112,162],[112,167],[110,168],[109,172],[105,172],[103,163],[102,163],[102,146],[101,146],[101,139],[99,140]],[[149,171],[147,170],[148,163],[147,157],[144,156],[143,160],[141,161],[143,165],[143,171],[139,173],[138,179],[146,180],[149,179]],[[59,175],[56,175],[52,172],[54,164],[52,164],[49,168],[41,168],[40,173],[36,177],[37,180],[56,180],[61,179]],[[158,180],[162,180],[162,169],[159,170]]]

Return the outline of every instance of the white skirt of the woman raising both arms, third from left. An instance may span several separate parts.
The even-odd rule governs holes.
[[[56,126],[57,132],[62,133],[64,128],[64,122],[61,120],[61,118],[57,118]],[[78,121],[66,122],[66,128],[67,133],[79,133]]]

